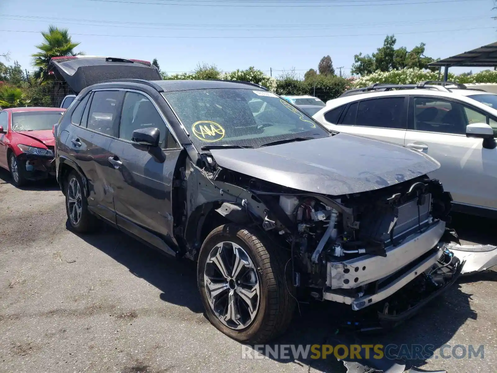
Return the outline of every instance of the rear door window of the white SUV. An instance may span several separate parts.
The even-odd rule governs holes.
[[[359,102],[355,125],[405,129],[404,97],[385,97]]]

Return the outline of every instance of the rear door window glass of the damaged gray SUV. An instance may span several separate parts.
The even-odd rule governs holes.
[[[115,136],[120,97],[119,91],[94,92],[88,111],[87,128],[105,135]]]

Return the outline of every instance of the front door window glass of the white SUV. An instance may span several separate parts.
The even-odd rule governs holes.
[[[415,130],[463,135],[468,124],[460,103],[431,97],[414,98]]]

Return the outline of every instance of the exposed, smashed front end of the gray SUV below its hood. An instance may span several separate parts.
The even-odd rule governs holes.
[[[352,310],[374,305],[383,325],[410,317],[463,268],[448,246],[450,194],[426,176],[330,196],[223,169],[211,156],[198,163],[204,167],[188,163],[181,171],[186,257],[196,257],[206,220],[255,225],[287,251],[296,297]]]

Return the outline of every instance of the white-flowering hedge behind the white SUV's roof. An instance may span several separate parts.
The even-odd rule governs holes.
[[[438,72],[422,69],[402,69],[389,72],[377,71],[373,74],[360,77],[353,83],[353,86],[361,88],[374,83],[416,84],[423,81],[441,79]],[[449,73],[447,80],[455,83],[497,83],[497,71],[485,70],[472,75],[454,75]]]

